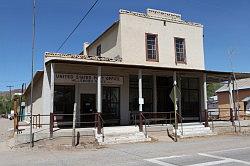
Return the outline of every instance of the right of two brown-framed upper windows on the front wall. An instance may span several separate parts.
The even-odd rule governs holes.
[[[175,56],[177,63],[186,63],[185,39],[175,38]]]

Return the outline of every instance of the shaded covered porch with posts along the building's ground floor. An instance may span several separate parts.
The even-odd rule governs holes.
[[[208,76],[202,70],[58,59],[46,62],[46,70],[53,103],[47,114],[61,127],[72,125],[74,103],[77,127],[142,126],[143,117],[154,118],[151,123],[206,121]]]

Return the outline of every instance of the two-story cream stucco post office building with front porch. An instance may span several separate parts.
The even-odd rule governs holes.
[[[119,20],[79,55],[45,53],[44,71],[34,78],[33,114],[72,115],[76,103],[78,122],[94,121],[87,114],[98,112],[105,125],[129,125],[136,111],[175,110],[186,122],[202,122],[206,81],[230,76],[205,70],[203,25],[154,9],[120,10]]]

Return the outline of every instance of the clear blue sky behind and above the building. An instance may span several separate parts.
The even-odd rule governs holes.
[[[94,0],[36,0],[35,70],[43,68],[43,54],[55,52]],[[180,13],[204,25],[206,69],[250,72],[249,0],[100,0],[66,45],[64,53],[80,53],[118,19],[119,9],[147,8]],[[0,91],[20,88],[31,78],[32,0],[0,0]]]

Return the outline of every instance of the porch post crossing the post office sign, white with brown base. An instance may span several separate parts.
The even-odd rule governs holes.
[[[97,133],[101,134],[101,113],[102,113],[102,67],[98,66],[98,71],[97,71]]]

